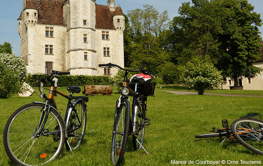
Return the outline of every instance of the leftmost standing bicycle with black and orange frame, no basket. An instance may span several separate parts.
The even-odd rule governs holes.
[[[82,143],[86,129],[88,97],[73,96],[80,93],[76,86],[67,87],[69,96],[54,89],[52,76],[69,72],[52,71],[40,82],[51,83],[48,97],[41,92],[43,102],[33,102],[18,108],[7,120],[3,133],[4,148],[10,160],[17,165],[42,165],[57,158],[64,147],[76,149]],[[40,86],[38,86],[40,90]],[[68,99],[63,120],[58,112],[53,92]],[[73,100],[73,101],[72,101]]]

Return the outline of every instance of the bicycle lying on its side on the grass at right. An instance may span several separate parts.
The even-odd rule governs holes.
[[[254,117],[254,118],[253,118]],[[258,117],[256,119],[255,117]],[[240,144],[256,154],[263,155],[263,121],[258,113],[247,114],[245,117],[234,120],[229,127],[226,119],[222,120],[223,128],[213,127],[209,134],[195,135],[195,138],[224,137],[233,143],[235,138]],[[221,144],[222,144],[221,143]]]

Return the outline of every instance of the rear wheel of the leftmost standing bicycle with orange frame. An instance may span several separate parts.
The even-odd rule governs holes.
[[[79,100],[76,104],[74,104],[74,107],[76,110],[72,110],[69,118],[67,119],[68,142],[72,150],[78,148],[79,145],[82,144],[87,122],[87,114],[83,101]],[[75,130],[76,128],[78,129]],[[71,130],[74,131],[71,133]],[[68,144],[66,144],[66,147],[67,146]],[[67,147],[67,149],[69,149],[69,147]]]

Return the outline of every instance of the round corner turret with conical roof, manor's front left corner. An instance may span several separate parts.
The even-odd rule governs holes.
[[[28,0],[26,8],[24,8],[24,20],[27,28],[34,28],[38,21],[38,9],[33,0]]]

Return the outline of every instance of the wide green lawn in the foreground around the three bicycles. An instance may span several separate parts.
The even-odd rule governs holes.
[[[65,87],[57,89],[68,94]],[[143,150],[134,151],[132,140],[129,139],[123,165],[172,165],[171,160],[187,162],[191,160],[194,161],[192,165],[206,165],[195,164],[196,160],[229,160],[238,161],[240,165],[240,160],[262,160],[262,156],[247,150],[240,144],[233,146],[230,141],[225,141],[220,145],[219,138],[196,139],[194,135],[209,133],[213,126],[220,127],[222,119],[228,119],[231,124],[235,119],[248,113],[262,113],[263,98],[174,95],[157,90],[155,96],[148,97],[147,117],[151,119],[151,125],[145,130],[144,147],[150,155]],[[117,92],[113,92],[111,96],[90,96],[87,102],[87,128],[83,145],[74,150],[73,154],[64,147],[59,158],[46,165],[112,165],[110,147],[114,107],[118,97]],[[64,117],[67,99],[61,96],[55,99],[59,112]],[[14,96],[9,99],[0,99],[1,139],[6,121],[14,110],[33,101],[41,101],[41,99],[36,94],[31,97]],[[0,147],[0,165],[13,165],[4,150],[2,141]],[[220,162],[215,165],[225,164]]]

